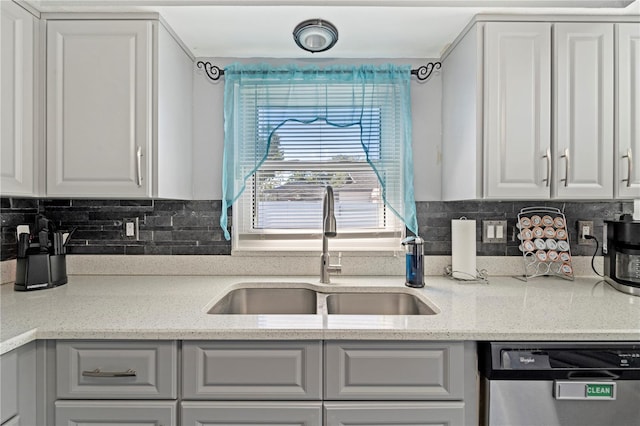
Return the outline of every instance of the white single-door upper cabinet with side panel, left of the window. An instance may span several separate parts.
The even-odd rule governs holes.
[[[190,198],[191,70],[158,21],[49,20],[47,195]]]

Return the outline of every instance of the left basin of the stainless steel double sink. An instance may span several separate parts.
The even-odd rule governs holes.
[[[316,314],[317,295],[306,288],[238,288],[220,299],[210,314]]]

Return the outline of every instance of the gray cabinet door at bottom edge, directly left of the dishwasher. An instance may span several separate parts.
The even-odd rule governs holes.
[[[326,426],[464,425],[463,402],[326,402]]]

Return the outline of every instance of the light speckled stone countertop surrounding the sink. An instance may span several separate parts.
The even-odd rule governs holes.
[[[415,290],[436,315],[210,315],[239,283],[413,291],[402,277],[89,276],[54,289],[0,286],[0,353],[35,339],[640,340],[640,297],[597,278],[489,284],[426,277]],[[260,284],[258,284],[260,285]],[[271,284],[273,285],[273,284]]]

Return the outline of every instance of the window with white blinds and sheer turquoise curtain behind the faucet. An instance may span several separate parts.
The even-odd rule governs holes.
[[[227,76],[223,181],[234,203],[233,249],[319,250],[331,185],[332,250],[398,250],[406,200],[415,215],[403,90],[331,73],[313,81],[251,73],[232,87]]]

